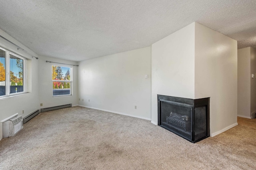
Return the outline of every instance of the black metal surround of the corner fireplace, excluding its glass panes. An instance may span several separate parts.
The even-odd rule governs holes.
[[[162,125],[162,117],[161,117],[161,102],[166,102],[166,103],[170,103],[172,105],[179,105],[179,106],[183,106],[183,107],[190,107],[191,112],[192,112],[192,123],[191,123],[191,133],[192,133],[192,139],[172,130],[171,128],[168,128],[166,126]],[[207,135],[195,140],[195,127],[194,127],[194,114],[195,114],[195,108],[196,107],[206,107],[206,131],[207,131]],[[190,141],[190,142],[199,142],[200,140],[203,140],[205,138],[208,138],[210,136],[210,97],[207,98],[202,98],[202,99],[187,99],[187,98],[182,98],[182,97],[173,97],[173,96],[166,96],[166,95],[158,95],[158,125],[160,127],[163,127],[179,136],[181,136],[182,138]]]

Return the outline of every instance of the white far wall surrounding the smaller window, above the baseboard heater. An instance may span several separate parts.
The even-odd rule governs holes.
[[[71,66],[63,65],[57,63],[46,63],[46,61],[66,63],[78,65],[75,61],[68,61],[64,59],[57,59],[53,57],[38,56],[38,91],[39,91],[39,103],[38,108],[46,108],[52,106],[59,106],[72,103],[72,106],[78,105],[78,67],[80,66]],[[60,65],[66,67],[72,67],[72,95],[62,96],[62,97],[53,97],[52,96],[52,65]],[[43,103],[43,106],[40,107],[40,103]]]

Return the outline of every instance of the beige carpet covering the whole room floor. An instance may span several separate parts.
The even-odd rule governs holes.
[[[256,169],[256,119],[191,143],[150,121],[72,107],[0,141],[0,169]]]

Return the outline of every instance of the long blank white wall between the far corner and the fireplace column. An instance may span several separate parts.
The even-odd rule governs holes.
[[[150,74],[151,47],[81,61],[79,105],[150,120]]]

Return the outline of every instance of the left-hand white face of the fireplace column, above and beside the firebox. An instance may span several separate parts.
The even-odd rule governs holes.
[[[152,44],[152,123],[157,95],[194,99],[195,23]]]

